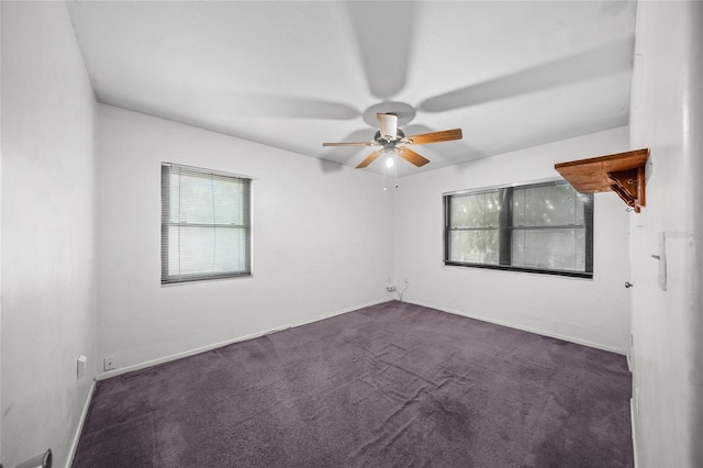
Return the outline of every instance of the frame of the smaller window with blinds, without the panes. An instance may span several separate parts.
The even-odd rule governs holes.
[[[211,177],[211,178],[220,178],[220,179],[237,179],[244,182],[244,205],[242,209],[243,212],[243,224],[222,224],[222,223],[190,223],[192,227],[228,227],[228,229],[244,229],[246,237],[245,237],[245,268],[243,270],[228,271],[222,274],[179,274],[179,275],[169,275],[168,274],[168,261],[169,261],[169,248],[170,244],[168,243],[168,230],[172,225],[181,225],[182,223],[174,223],[169,219],[170,214],[170,197],[167,196],[168,190],[168,181],[167,178],[171,172],[171,168],[179,168],[187,172],[191,172],[194,175]],[[161,197],[161,239],[160,239],[160,249],[161,249],[161,275],[160,275],[160,283],[161,286],[172,286],[180,283],[189,283],[194,281],[209,281],[216,279],[225,279],[225,278],[243,278],[252,276],[252,182],[253,178],[231,172],[224,172],[219,170],[205,169],[202,167],[194,166],[186,166],[182,164],[167,163],[161,161],[160,164],[160,197]],[[180,202],[180,201],[179,201]]]

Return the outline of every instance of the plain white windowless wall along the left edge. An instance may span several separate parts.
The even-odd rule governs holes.
[[[94,375],[96,103],[66,5],[1,8],[2,463],[63,466]]]

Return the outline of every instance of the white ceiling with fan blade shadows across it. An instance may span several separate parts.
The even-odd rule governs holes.
[[[399,176],[628,122],[633,1],[67,4],[100,102],[338,164],[378,110],[464,131]]]

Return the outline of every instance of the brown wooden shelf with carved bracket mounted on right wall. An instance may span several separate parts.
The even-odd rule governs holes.
[[[649,149],[635,149],[555,164],[554,168],[580,193],[612,190],[639,213],[645,205],[645,165]]]

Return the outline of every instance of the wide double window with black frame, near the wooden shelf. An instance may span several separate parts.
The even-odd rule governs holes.
[[[593,196],[566,181],[444,196],[445,265],[593,277]]]

